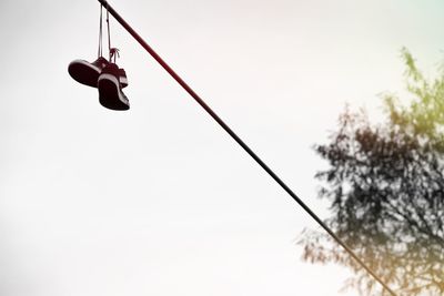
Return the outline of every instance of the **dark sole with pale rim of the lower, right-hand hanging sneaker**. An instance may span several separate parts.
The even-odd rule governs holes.
[[[120,95],[119,80],[112,74],[101,74],[98,81],[99,102],[102,106],[111,110],[129,110],[128,99]]]

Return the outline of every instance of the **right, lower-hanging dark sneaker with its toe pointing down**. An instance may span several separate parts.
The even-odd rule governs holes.
[[[123,69],[119,69],[115,63],[109,63],[99,75],[99,102],[104,108],[111,110],[130,109],[130,102],[122,92],[122,84],[120,82],[121,70]]]

